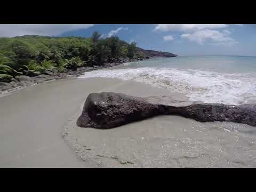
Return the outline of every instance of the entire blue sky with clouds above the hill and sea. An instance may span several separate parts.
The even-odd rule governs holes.
[[[0,37],[118,36],[142,49],[177,55],[256,56],[254,24],[0,24]]]

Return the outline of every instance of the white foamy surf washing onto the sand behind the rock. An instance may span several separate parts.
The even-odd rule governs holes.
[[[238,105],[256,99],[256,76],[170,68],[103,69],[78,78],[133,80],[186,94],[190,100]]]

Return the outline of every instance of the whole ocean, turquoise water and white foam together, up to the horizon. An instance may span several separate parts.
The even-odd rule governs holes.
[[[256,57],[156,58],[86,72],[78,78],[89,77],[142,82],[205,103],[256,103]]]

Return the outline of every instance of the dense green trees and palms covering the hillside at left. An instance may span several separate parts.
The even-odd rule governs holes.
[[[145,58],[137,53],[135,42],[117,36],[101,38],[94,31],[90,38],[20,36],[0,38],[0,80],[19,75],[35,76],[45,70],[66,72],[84,66],[100,66],[121,58]]]

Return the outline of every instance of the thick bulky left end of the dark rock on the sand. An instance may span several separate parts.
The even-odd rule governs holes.
[[[91,93],[77,125],[108,129],[155,116],[158,106],[121,93]]]

